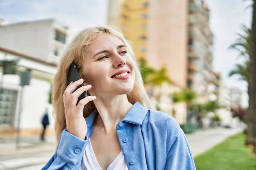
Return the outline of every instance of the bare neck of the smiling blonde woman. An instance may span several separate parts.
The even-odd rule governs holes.
[[[117,123],[125,117],[133,106],[128,101],[126,94],[115,96],[112,99],[97,97],[94,104],[99,112],[99,116],[94,121],[94,126],[104,128],[106,133],[116,128]]]

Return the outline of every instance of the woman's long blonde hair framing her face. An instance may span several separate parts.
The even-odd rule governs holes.
[[[131,54],[132,58],[135,57],[134,52],[131,48],[131,44],[128,40],[125,39],[123,34],[116,30],[113,27],[92,27],[86,28],[81,31],[76,38],[70,43],[69,47],[67,48],[64,56],[62,57],[59,65],[58,71],[55,75],[53,88],[52,88],[52,104],[54,108],[55,114],[55,132],[57,141],[59,140],[59,136],[62,130],[66,127],[66,119],[64,113],[64,103],[62,99],[62,95],[67,88],[66,81],[67,81],[67,73],[72,62],[76,63],[78,72],[80,73],[81,78],[84,78],[83,74],[83,63],[84,63],[84,56],[86,54],[87,47],[95,42],[102,34],[110,34],[114,37],[117,37],[121,40],[127,47],[128,52]],[[143,86],[143,80],[140,74],[140,69],[136,65],[135,71],[135,83],[134,88],[131,93],[127,94],[128,101],[131,103],[139,101],[144,107],[150,109],[149,105],[149,98]],[[93,102],[89,102],[85,109],[84,109],[84,118],[90,115],[90,113],[95,110],[96,107]]]

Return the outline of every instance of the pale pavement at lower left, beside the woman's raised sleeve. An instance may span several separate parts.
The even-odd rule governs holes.
[[[20,146],[16,150],[16,136],[0,137],[0,170],[41,169],[54,154],[55,136],[47,136],[45,142],[39,136],[23,136]]]

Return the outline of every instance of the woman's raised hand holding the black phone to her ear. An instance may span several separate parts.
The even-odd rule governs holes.
[[[96,96],[87,96],[80,100],[76,106],[79,96],[84,93],[84,91],[92,88],[91,85],[86,85],[76,90],[77,86],[81,85],[83,82],[83,79],[71,82],[70,85],[67,86],[62,99],[65,108],[67,131],[84,140],[87,133],[87,125],[83,116],[83,108],[88,102],[96,99]]]

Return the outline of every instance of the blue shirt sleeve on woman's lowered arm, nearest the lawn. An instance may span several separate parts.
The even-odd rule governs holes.
[[[167,159],[165,170],[196,170],[183,130],[172,118],[167,123]]]

